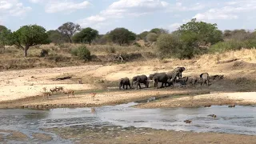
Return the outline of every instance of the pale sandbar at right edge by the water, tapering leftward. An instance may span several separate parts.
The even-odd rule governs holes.
[[[174,108],[212,105],[256,105],[256,93],[216,93],[182,98],[166,98],[134,106],[137,108]]]

